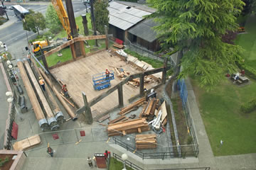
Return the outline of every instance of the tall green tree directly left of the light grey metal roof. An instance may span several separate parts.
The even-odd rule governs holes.
[[[105,34],[105,26],[108,27],[108,23],[110,21],[110,12],[107,10],[107,6],[108,1],[104,0],[96,0],[94,4],[96,30],[102,34]]]

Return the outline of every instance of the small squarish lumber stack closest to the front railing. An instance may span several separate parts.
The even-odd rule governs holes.
[[[154,149],[156,148],[156,134],[136,135],[136,149]]]

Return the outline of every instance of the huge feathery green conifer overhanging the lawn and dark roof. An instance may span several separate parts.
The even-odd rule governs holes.
[[[245,4],[241,0],[148,0],[156,13],[155,27],[161,47],[179,50],[174,76],[200,75],[201,86],[213,89],[223,74],[237,69],[242,48],[221,40],[238,29],[236,17]],[[183,67],[179,72],[180,67]]]

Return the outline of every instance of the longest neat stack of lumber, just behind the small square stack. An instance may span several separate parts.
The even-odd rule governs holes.
[[[121,123],[114,123],[107,126],[108,136],[126,135],[135,132],[144,132],[150,130],[145,118],[128,120]]]

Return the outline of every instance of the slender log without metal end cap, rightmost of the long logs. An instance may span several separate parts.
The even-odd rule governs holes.
[[[46,76],[46,74],[39,69],[39,71],[41,72],[41,74],[43,75],[43,78],[46,80],[46,82],[49,84],[49,86],[52,88],[54,94],[57,96],[57,98],[59,99],[60,103],[62,103],[63,107],[65,108],[65,110],[68,112],[68,115],[70,115],[70,117],[73,120],[77,120],[78,117],[75,115],[75,113],[73,113],[73,111],[71,110],[71,108],[68,106],[67,103],[65,103],[65,100],[61,97],[61,95],[59,94],[58,90],[55,88],[55,86],[52,86],[50,80],[48,79],[48,77]]]

